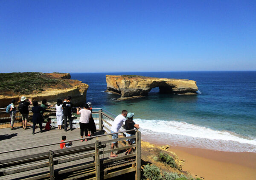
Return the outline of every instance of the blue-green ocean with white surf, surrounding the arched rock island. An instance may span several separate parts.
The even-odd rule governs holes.
[[[106,93],[105,75],[190,79],[198,95],[161,94],[117,101]],[[134,113],[142,138],[171,146],[229,152],[256,152],[256,71],[71,73],[89,85],[87,101],[115,115]]]

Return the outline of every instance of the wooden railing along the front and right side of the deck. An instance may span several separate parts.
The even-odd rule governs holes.
[[[97,108],[94,110],[96,109]],[[94,114],[98,114],[99,117],[99,130],[104,130],[106,132],[104,135],[94,136],[93,138],[96,138],[95,143],[0,160],[0,179],[71,180],[82,178],[89,180],[103,180],[129,172],[136,172],[135,179],[140,180],[140,131],[135,129],[135,135],[129,137],[126,137],[126,133],[134,130],[125,131],[123,130],[123,127],[121,132],[108,133],[110,132],[110,127],[115,116],[102,109],[99,109],[98,112],[94,112]],[[114,140],[109,139],[100,141],[100,138],[103,136],[112,134],[118,134],[118,138]],[[135,138],[135,144],[128,144],[127,140],[132,138]],[[82,139],[85,140],[89,138]],[[71,141],[80,141],[82,139]],[[119,148],[111,149],[111,144],[116,141],[119,142]],[[0,152],[0,155],[14,152],[20,153],[20,151],[24,150],[31,151],[35,148],[55,144],[59,144],[59,142],[9,150]],[[130,148],[132,148],[133,151],[129,155],[120,153],[119,157],[110,157],[111,152],[125,151]],[[46,169],[47,167],[49,167],[49,169]]]

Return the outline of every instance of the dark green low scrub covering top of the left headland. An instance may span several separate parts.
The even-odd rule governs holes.
[[[61,80],[43,78],[44,73],[0,73],[0,95],[30,94],[55,86]]]

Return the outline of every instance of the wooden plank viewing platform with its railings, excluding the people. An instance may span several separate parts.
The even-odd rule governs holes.
[[[6,121],[7,117],[4,118],[3,114],[2,112],[1,120]],[[52,118],[54,125],[54,109],[44,116]],[[73,127],[77,127],[79,115],[73,114],[73,118]],[[126,137],[127,131],[121,127],[120,132],[116,133],[118,139],[112,140],[109,129],[115,116],[96,108],[93,109],[93,118],[97,132],[95,136],[88,137],[88,141],[83,142],[80,141],[79,128],[67,132],[57,128],[43,133],[37,128],[35,135],[32,135],[32,127],[24,130],[19,125],[20,120],[17,120],[16,126],[14,125],[17,129],[0,129],[0,179],[103,180],[135,172],[134,179],[139,180],[140,132],[135,130],[134,136]],[[2,127],[7,126],[7,123],[2,122]],[[71,148],[60,149],[59,144],[63,135],[67,136],[67,143],[72,141]],[[129,145],[127,140],[131,138],[135,138],[136,141],[135,144]],[[111,149],[114,141],[118,141],[119,148]],[[131,154],[125,155],[126,149],[130,148],[133,149]],[[111,152],[118,151],[118,157],[110,157]]]

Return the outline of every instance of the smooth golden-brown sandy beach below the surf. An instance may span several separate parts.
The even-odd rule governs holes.
[[[143,141],[156,146],[166,145],[143,137]],[[186,160],[183,171],[205,180],[256,180],[256,153],[221,152],[208,149],[196,149],[170,146],[180,160]]]

